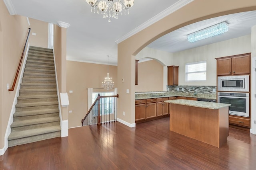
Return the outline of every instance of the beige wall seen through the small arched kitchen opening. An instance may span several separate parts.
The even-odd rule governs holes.
[[[138,85],[135,92],[163,90],[163,66],[156,60],[138,63]]]

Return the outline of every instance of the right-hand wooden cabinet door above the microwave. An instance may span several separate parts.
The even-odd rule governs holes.
[[[250,55],[232,58],[232,74],[250,74]]]

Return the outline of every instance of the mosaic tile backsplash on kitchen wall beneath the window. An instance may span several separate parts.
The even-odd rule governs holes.
[[[193,89],[194,88],[194,89]],[[191,92],[216,94],[216,86],[167,86],[169,92]]]

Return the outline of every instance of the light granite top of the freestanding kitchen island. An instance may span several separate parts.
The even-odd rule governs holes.
[[[170,104],[180,104],[180,105],[185,105],[185,106],[202,107],[202,108],[206,108],[206,109],[220,109],[222,107],[231,106],[231,104],[202,102],[202,101],[184,100],[184,99],[166,100],[164,102],[170,103]]]

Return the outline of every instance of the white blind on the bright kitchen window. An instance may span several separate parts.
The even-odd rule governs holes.
[[[206,80],[206,61],[187,63],[185,69],[186,81]]]

